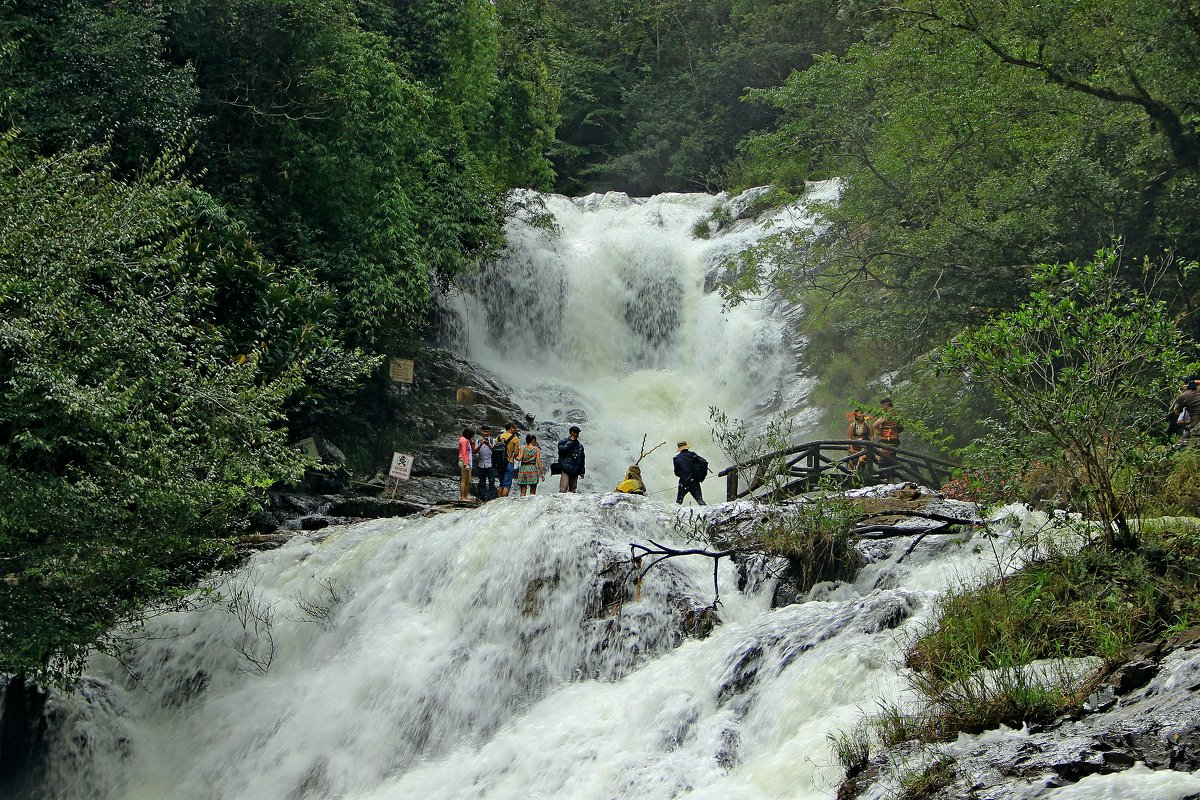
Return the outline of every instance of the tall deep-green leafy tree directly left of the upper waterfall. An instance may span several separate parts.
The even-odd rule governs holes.
[[[342,4],[197,0],[170,29],[200,65],[206,185],[268,254],[335,289],[349,341],[385,349],[419,330],[432,284],[494,249],[499,196],[450,98],[403,77]]]

